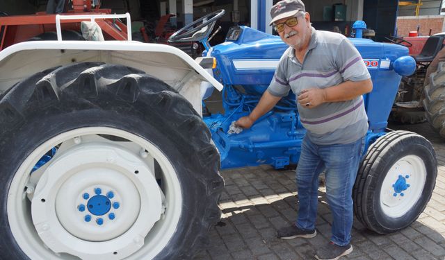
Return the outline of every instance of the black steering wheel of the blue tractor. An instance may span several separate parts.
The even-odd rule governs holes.
[[[205,37],[209,37],[216,20],[223,17],[224,14],[224,9],[211,12],[209,15],[205,15],[173,33],[168,37],[168,42],[197,42]],[[211,25],[209,26],[209,24]]]

